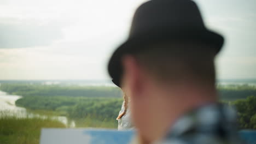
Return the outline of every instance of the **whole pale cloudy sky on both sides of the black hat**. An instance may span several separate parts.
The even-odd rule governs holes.
[[[146,0],[0,0],[0,80],[109,79],[107,63]],[[195,0],[225,37],[218,79],[256,79],[256,1]]]

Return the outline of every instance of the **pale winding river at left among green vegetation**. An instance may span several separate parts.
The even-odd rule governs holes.
[[[20,95],[10,95],[8,93],[5,93],[3,91],[0,91],[0,111],[4,112],[5,116],[15,116],[18,118],[22,117],[38,117],[38,118],[49,118],[49,116],[45,115],[39,115],[27,112],[27,110],[24,107],[19,107],[15,105],[15,101],[22,98]],[[64,116],[51,116],[51,119],[57,119],[57,121],[60,121],[61,123],[65,124],[67,127],[74,128],[75,122],[68,121],[67,117]]]

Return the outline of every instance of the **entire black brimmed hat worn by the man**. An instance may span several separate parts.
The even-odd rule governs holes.
[[[150,44],[173,40],[200,40],[212,45],[216,54],[224,38],[208,30],[195,2],[190,0],[152,0],[142,4],[133,16],[129,38],[114,51],[108,73],[120,83],[123,73],[121,58],[143,51]],[[207,47],[208,48],[208,47]],[[208,48],[210,49],[210,48]]]

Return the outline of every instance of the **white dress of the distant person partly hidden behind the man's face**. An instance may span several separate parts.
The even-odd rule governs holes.
[[[133,125],[131,123],[131,111],[129,109],[130,106],[128,106],[128,109],[125,113],[125,115],[118,119],[118,130],[132,130],[133,129]],[[125,110],[125,107],[124,107],[124,102],[123,102],[123,105],[122,105],[122,108],[119,112],[119,115],[121,113],[123,113]]]

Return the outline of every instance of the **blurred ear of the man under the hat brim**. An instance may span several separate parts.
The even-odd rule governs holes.
[[[136,61],[136,58],[133,56],[126,55],[122,60],[124,68],[124,84],[126,88],[129,88],[127,89],[127,91],[130,92],[129,96],[133,97],[133,95],[139,95],[143,87],[142,69]]]

